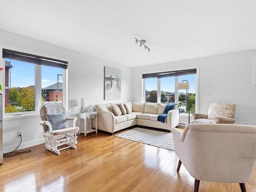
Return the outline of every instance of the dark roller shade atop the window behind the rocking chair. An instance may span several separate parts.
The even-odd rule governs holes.
[[[42,65],[42,66],[57,67],[62,69],[68,68],[67,61],[52,59],[49,57],[42,57],[38,55],[32,55],[32,54],[18,52],[18,51],[12,51],[8,49],[3,49],[3,58],[14,59],[14,60],[19,60],[24,62],[31,62],[31,63],[35,63],[36,65]]]

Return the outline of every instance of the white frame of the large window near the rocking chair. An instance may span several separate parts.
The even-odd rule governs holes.
[[[49,57],[52,59],[59,59],[59,60],[66,60],[69,63],[68,59],[63,58],[57,58],[55,56],[49,56],[41,53],[32,53],[31,51],[27,50],[20,50],[16,48],[10,48],[10,47],[1,47],[0,45],[0,66],[3,67],[3,73],[0,75],[1,84],[3,85],[3,118],[4,117],[16,117],[16,116],[27,116],[27,115],[34,115],[39,114],[40,108],[41,108],[41,65],[35,64],[35,110],[34,111],[27,111],[27,112],[17,112],[17,113],[5,113],[5,59],[3,58],[3,48],[9,49],[9,50],[15,50],[20,51],[28,54],[34,54],[34,55],[41,55],[45,57]],[[63,70],[63,90],[62,90],[62,103],[65,107],[66,111],[68,111],[68,69],[62,69]]]

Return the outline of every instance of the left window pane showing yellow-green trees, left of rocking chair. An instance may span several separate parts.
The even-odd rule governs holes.
[[[35,64],[5,61],[5,113],[35,111]]]

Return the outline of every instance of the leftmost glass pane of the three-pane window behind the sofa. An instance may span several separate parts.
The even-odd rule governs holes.
[[[157,102],[157,78],[145,79],[145,102]]]

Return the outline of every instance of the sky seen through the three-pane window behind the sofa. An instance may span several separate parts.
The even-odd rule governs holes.
[[[196,93],[196,74],[181,75],[178,81],[187,80],[189,82],[189,93]],[[146,78],[145,88],[147,91],[157,90],[157,78]],[[175,91],[175,77],[161,78],[161,91],[174,92]],[[179,90],[185,93],[186,90]]]

